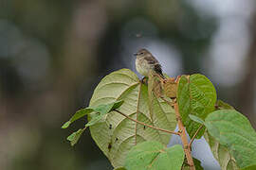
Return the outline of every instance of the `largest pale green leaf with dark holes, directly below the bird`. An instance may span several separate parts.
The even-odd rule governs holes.
[[[90,108],[117,100],[124,101],[118,110],[138,121],[169,130],[176,127],[174,110],[160,99],[149,105],[147,86],[141,84],[137,75],[128,69],[113,72],[101,80],[91,98]],[[90,114],[89,120],[94,114]],[[135,144],[144,141],[168,144],[171,138],[170,134],[141,126],[117,111],[111,111],[98,124],[91,126],[90,131],[114,167],[123,166],[128,151]]]

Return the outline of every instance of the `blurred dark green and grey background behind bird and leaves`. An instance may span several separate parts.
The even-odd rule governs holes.
[[[101,78],[135,70],[148,48],[169,76],[201,73],[256,127],[254,0],[0,0],[0,169],[94,170],[111,164],[84,120]]]

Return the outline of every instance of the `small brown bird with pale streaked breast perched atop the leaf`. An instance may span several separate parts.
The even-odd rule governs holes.
[[[161,65],[158,60],[146,49],[140,49],[136,54],[134,54],[136,59],[136,69],[137,72],[142,76],[149,76],[150,71],[165,78],[162,73]]]

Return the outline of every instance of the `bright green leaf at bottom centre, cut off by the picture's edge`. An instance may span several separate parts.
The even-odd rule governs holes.
[[[180,170],[184,161],[181,145],[167,148],[155,141],[148,141],[134,146],[128,153],[124,167],[128,170]]]

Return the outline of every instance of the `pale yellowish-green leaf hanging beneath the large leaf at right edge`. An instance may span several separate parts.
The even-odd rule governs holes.
[[[205,131],[204,137],[210,145],[210,150],[214,158],[219,162],[222,170],[238,170],[236,161],[229,153],[229,149],[224,144],[220,144],[212,136],[210,136],[208,130]]]

